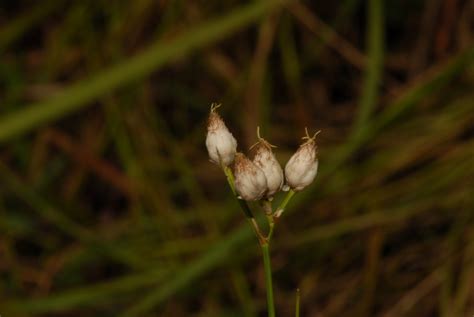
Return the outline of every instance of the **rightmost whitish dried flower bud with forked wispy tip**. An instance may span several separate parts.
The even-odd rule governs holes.
[[[299,149],[290,158],[285,166],[285,177],[288,186],[294,191],[300,191],[311,184],[318,172],[318,158],[316,153],[316,134],[313,137],[308,135],[303,138],[307,140],[301,144]]]

